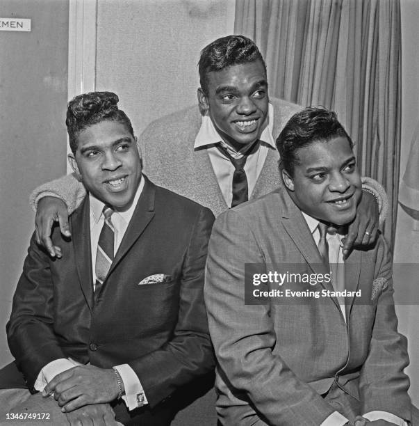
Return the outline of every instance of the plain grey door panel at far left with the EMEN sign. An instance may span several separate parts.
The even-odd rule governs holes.
[[[32,19],[0,31],[0,365],[4,326],[33,232],[30,192],[65,173],[68,0],[1,0],[1,17]]]

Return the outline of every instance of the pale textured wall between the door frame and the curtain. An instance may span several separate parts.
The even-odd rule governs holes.
[[[199,52],[233,33],[234,8],[235,0],[99,1],[97,90],[120,96],[136,134],[194,104]]]

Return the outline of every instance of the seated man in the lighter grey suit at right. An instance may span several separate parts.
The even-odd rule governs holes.
[[[218,216],[208,246],[220,423],[406,425],[409,358],[388,246],[380,235],[343,261],[341,239],[361,198],[352,141],[335,113],[309,108],[277,147],[285,187]],[[315,281],[288,274],[279,285],[275,271]]]

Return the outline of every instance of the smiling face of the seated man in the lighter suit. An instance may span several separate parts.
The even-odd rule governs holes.
[[[296,152],[294,176],[282,172],[295,204],[315,219],[350,223],[361,198],[361,178],[354,152],[344,137],[315,141]]]

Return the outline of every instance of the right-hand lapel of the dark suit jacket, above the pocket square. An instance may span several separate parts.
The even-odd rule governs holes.
[[[115,269],[122,258],[124,258],[126,252],[129,251],[154,217],[156,187],[144,175],[143,178],[145,179],[145,185],[142,189],[142,194],[135,207],[129,226],[126,228],[120,247],[115,253],[113,263],[110,265],[108,276],[110,276],[113,269]]]

